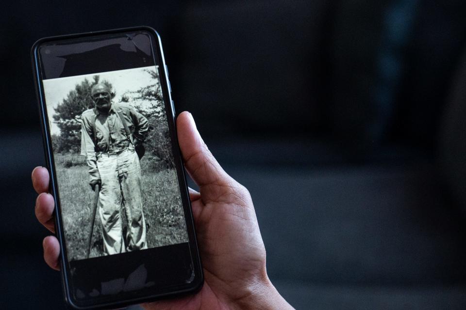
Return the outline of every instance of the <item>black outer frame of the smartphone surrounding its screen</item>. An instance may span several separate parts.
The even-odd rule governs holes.
[[[55,174],[55,165],[54,165],[54,157],[51,147],[51,139],[50,139],[50,128],[49,128],[49,121],[47,117],[47,108],[45,103],[45,94],[43,91],[43,83],[42,83],[42,73],[40,70],[40,58],[38,54],[38,49],[41,45],[50,42],[50,41],[59,41],[59,40],[69,40],[73,38],[84,38],[84,37],[91,37],[96,35],[106,35],[106,34],[117,34],[122,32],[131,32],[131,31],[148,31],[152,36],[155,38],[155,44],[152,45],[152,52],[153,57],[157,57],[157,61],[159,65],[159,74],[160,74],[160,81],[162,87],[162,93],[164,97],[164,104],[166,110],[166,118],[170,133],[170,139],[172,142],[172,149],[173,149],[173,156],[177,171],[177,177],[180,186],[180,193],[183,203],[183,210],[184,210],[184,217],[186,223],[186,230],[188,233],[189,238],[189,249],[191,253],[192,262],[194,264],[195,270],[195,279],[186,287],[186,285],[180,285],[180,287],[174,288],[169,293],[164,294],[151,294],[144,297],[138,297],[133,299],[126,299],[126,300],[116,300],[115,302],[108,302],[102,303],[98,305],[83,305],[78,300],[73,297],[73,294],[70,292],[70,270],[69,265],[67,262],[67,248],[65,246],[65,235],[63,230],[63,219],[61,215],[61,206],[60,206],[60,199],[59,199],[59,191],[58,191],[58,184]],[[146,302],[151,300],[160,299],[163,297],[168,296],[175,296],[179,294],[187,294],[193,293],[198,290],[203,285],[203,272],[200,263],[200,255],[199,249],[197,247],[197,240],[196,240],[196,233],[194,230],[194,221],[192,216],[191,204],[189,200],[189,192],[186,182],[186,175],[183,166],[183,159],[181,156],[181,151],[178,146],[178,139],[176,134],[176,124],[175,124],[175,111],[173,100],[171,98],[171,92],[169,89],[169,81],[168,81],[168,72],[165,63],[164,53],[162,49],[162,42],[160,35],[157,31],[153,28],[148,26],[139,26],[139,27],[131,27],[131,28],[121,28],[121,29],[112,29],[106,31],[95,31],[95,32],[85,32],[85,33],[77,33],[77,34],[70,34],[70,35],[60,35],[60,36],[53,36],[53,37],[46,37],[39,39],[36,41],[31,50],[32,56],[32,64],[33,64],[33,74],[34,74],[34,82],[36,87],[36,94],[39,104],[39,111],[40,111],[40,123],[42,127],[42,136],[43,136],[43,143],[44,143],[44,151],[45,157],[47,160],[48,170],[50,172],[50,192],[55,199],[55,234],[58,238],[60,249],[62,255],[60,255],[60,263],[61,263],[61,274],[62,274],[62,283],[63,289],[65,293],[65,300],[67,303],[75,309],[104,309],[104,308],[115,308],[115,307],[124,307],[134,303]],[[170,115],[171,114],[171,115]],[[150,249],[149,249],[150,250]],[[148,250],[144,250],[148,251]],[[63,255],[65,254],[65,255]],[[119,254],[124,255],[124,254]],[[116,298],[117,299],[117,298]]]

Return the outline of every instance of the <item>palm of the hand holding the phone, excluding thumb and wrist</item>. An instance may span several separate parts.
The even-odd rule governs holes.
[[[245,283],[256,281],[262,276],[261,271],[266,273],[265,248],[249,193],[244,188],[228,186],[221,190],[216,185],[203,189],[200,194],[191,195],[191,204],[204,266],[204,286],[196,295],[147,304],[148,309],[227,308],[232,298],[241,299],[250,293]],[[216,200],[210,200],[215,196]]]

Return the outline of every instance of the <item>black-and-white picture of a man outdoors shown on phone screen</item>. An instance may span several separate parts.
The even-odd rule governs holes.
[[[68,260],[187,242],[158,66],[43,82]]]

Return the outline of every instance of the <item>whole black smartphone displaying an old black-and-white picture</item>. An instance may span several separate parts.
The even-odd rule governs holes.
[[[119,308],[203,284],[162,44],[150,27],[32,48],[67,303]]]

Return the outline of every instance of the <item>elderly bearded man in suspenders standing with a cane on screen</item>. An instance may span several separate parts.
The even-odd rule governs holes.
[[[128,104],[112,103],[111,89],[105,84],[95,85],[91,96],[95,108],[85,110],[81,117],[81,154],[87,157],[90,186],[93,190],[100,187],[104,252],[109,255],[147,248],[141,167],[135,146],[144,141],[148,121]],[[126,236],[122,232],[123,206],[128,219]]]

